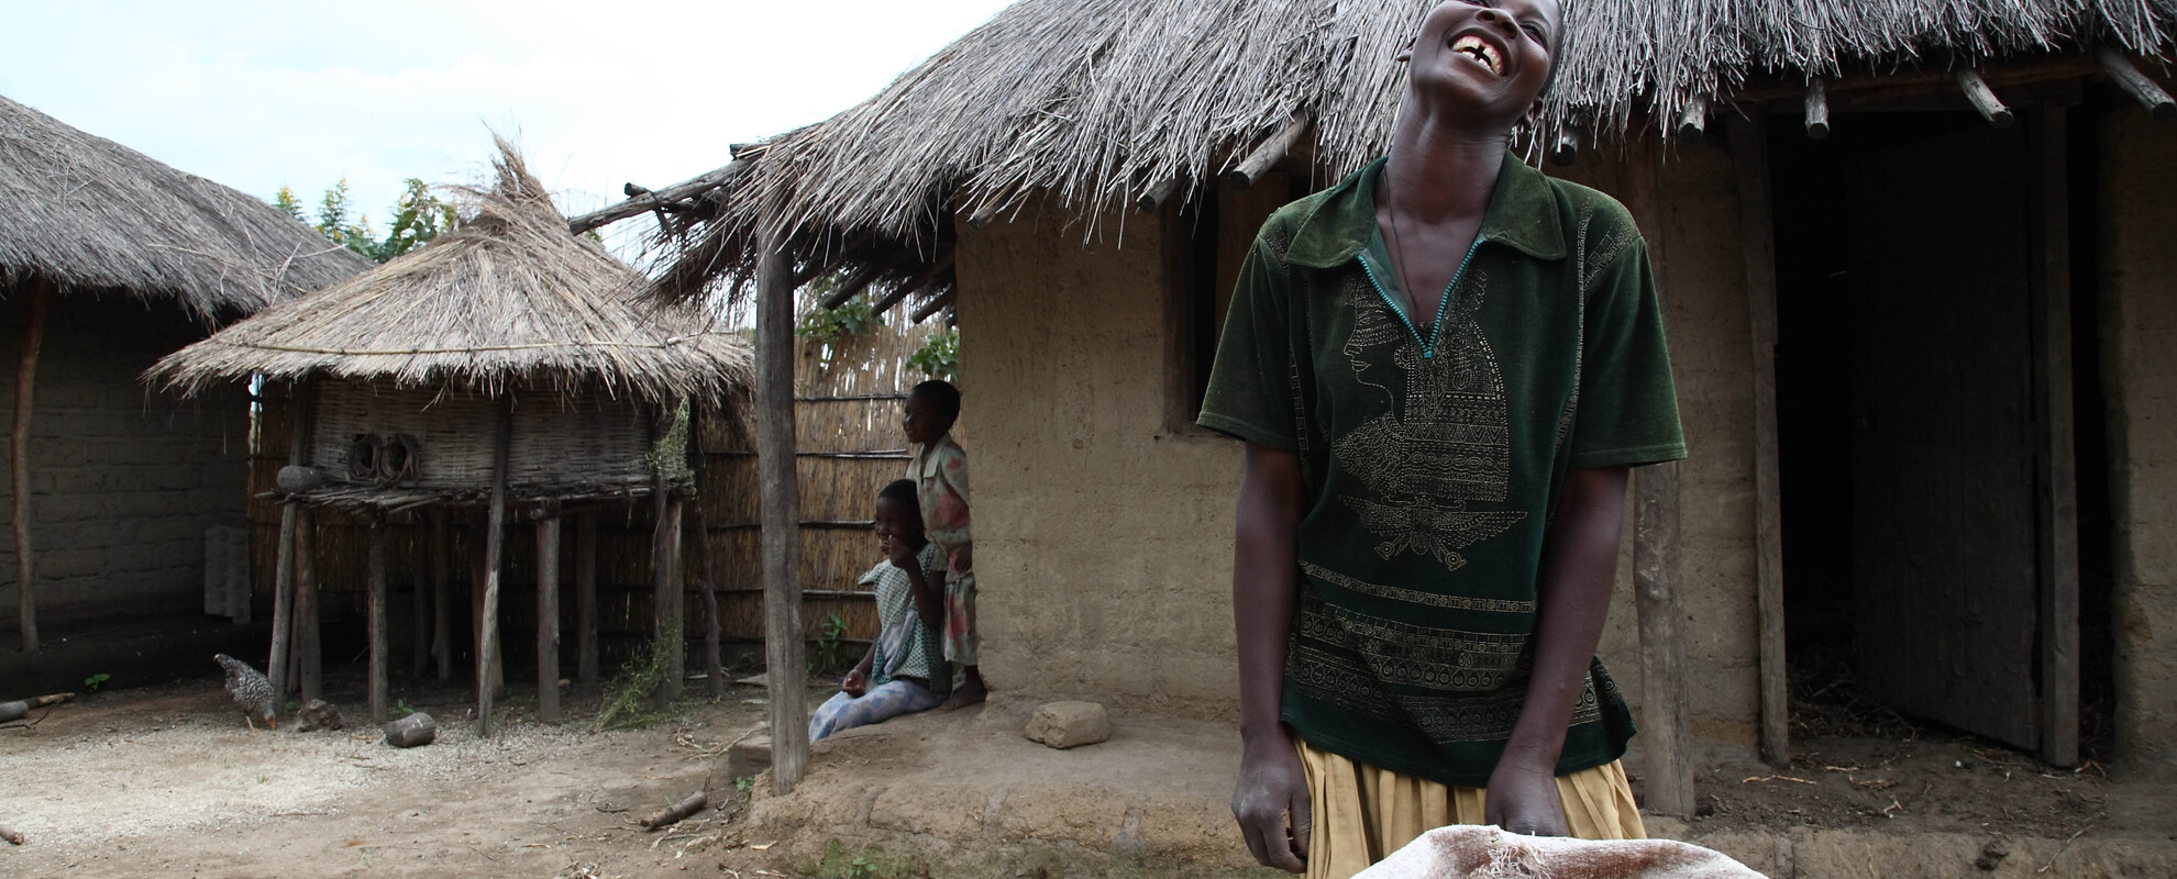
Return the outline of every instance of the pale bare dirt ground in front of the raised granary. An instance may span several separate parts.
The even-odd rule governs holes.
[[[440,718],[440,740],[401,751],[353,722],[355,681],[329,681],[346,731],[250,731],[205,666],[202,681],[89,694],[0,729],[0,825],[28,835],[0,844],[0,875],[790,875],[766,840],[736,835],[747,796],[725,781],[716,809],[636,825],[703,788],[762,720],[747,703],[762,690],[690,696],[666,722],[607,733],[586,727],[594,694],[555,727],[516,703],[490,740],[464,720],[468,696],[444,690],[411,705]]]

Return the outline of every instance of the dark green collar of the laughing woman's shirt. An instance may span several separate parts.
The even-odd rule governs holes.
[[[1284,261],[1306,268],[1335,268],[1354,259],[1376,233],[1376,176],[1385,159],[1376,159],[1339,181],[1330,194],[1300,220]],[[1504,152],[1489,209],[1483,213],[1480,237],[1504,244],[1535,259],[1565,259],[1565,233],[1557,213],[1550,178]]]

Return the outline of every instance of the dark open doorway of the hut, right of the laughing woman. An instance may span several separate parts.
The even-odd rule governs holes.
[[[1853,113],[1833,133],[1809,141],[1783,117],[1770,133],[1794,674],[2033,748],[2029,126]]]

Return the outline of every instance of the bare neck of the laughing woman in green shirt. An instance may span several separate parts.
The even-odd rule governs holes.
[[[1480,218],[1496,191],[1509,131],[1472,131],[1463,120],[1424,111],[1406,94],[1382,170],[1382,207],[1422,224]]]

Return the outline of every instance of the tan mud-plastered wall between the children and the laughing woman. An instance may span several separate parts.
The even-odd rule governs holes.
[[[1067,224],[1067,220],[1075,220]],[[1234,716],[1237,442],[1173,431],[1156,218],[962,224],[960,385],[997,698]]]

